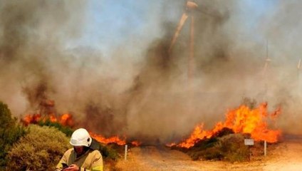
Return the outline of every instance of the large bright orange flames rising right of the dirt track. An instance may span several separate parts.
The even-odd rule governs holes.
[[[267,121],[269,119],[275,120],[280,113],[281,108],[278,108],[274,113],[269,114],[267,112],[267,103],[261,103],[258,108],[253,110],[246,105],[241,105],[235,110],[230,110],[226,114],[224,123],[217,123],[213,130],[204,130],[203,124],[197,125],[190,137],[180,142],[177,146],[192,147],[197,141],[211,138],[223,128],[229,128],[234,133],[249,133],[255,141],[277,142],[281,135],[281,130],[270,130]]]

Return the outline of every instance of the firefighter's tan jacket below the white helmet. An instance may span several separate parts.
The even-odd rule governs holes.
[[[72,164],[78,165],[81,171],[103,171],[103,157],[98,150],[89,149],[85,154],[77,158],[75,151],[71,148],[65,152],[60,162],[58,162],[56,171],[63,169],[62,163],[66,163],[68,166]]]

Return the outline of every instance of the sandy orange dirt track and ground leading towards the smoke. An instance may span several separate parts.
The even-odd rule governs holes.
[[[133,147],[127,161],[120,160],[116,170],[302,170],[302,136],[286,135],[282,142],[269,147],[266,157],[251,157],[250,162],[192,161],[189,156],[167,147]]]

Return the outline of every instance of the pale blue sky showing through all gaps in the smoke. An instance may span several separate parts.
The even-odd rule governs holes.
[[[175,2],[176,6],[181,3],[182,1]],[[91,0],[87,6],[87,16],[85,16],[87,24],[83,28],[83,35],[69,42],[68,45],[71,48],[75,46],[98,48],[105,56],[110,56],[114,48],[125,46],[124,42],[137,46],[131,44],[133,39],[147,38],[151,41],[158,38],[162,36],[159,34],[161,28],[158,18],[175,21],[180,15],[173,11],[173,6],[165,6],[169,15],[159,16],[162,4],[162,0]],[[241,26],[244,26],[243,31],[247,31],[246,34],[250,34],[258,25],[259,19],[271,14],[278,0],[241,0],[239,4],[241,8],[237,10],[239,10],[239,20],[242,21]],[[256,38],[257,35],[254,34]]]

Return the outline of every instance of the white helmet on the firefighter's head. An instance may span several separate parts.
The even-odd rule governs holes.
[[[92,139],[90,138],[90,135],[87,130],[84,128],[79,128],[78,130],[75,130],[73,132],[73,135],[71,135],[71,145],[73,146],[86,146],[89,147],[91,144]]]

